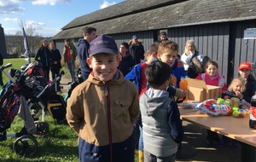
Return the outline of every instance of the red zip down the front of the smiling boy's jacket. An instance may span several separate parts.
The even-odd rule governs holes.
[[[109,150],[110,150],[110,161],[113,162],[113,146],[112,146],[112,129],[111,129],[111,112],[110,112],[110,96],[108,83],[105,84],[104,94],[107,97],[107,112],[108,112],[108,141],[109,141]]]

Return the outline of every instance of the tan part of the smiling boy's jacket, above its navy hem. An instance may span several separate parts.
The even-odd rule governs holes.
[[[117,74],[118,79],[107,85],[90,73],[67,101],[67,123],[90,144],[108,145],[110,133],[112,143],[123,142],[131,136],[133,124],[137,121],[139,101],[136,86],[121,72]],[[110,124],[112,131],[108,132]]]

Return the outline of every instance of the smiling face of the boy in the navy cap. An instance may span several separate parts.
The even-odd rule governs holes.
[[[119,66],[117,55],[112,54],[96,54],[87,59],[87,63],[96,78],[102,82],[108,82],[113,78]]]

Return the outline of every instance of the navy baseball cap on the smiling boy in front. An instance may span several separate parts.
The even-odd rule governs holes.
[[[90,42],[89,56],[100,53],[119,55],[119,49],[112,37],[108,35],[100,35]]]

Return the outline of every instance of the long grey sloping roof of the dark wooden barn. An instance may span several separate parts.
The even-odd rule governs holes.
[[[131,10],[133,9],[134,11],[139,9],[138,6],[139,4],[143,4],[140,3],[142,1],[128,0],[123,2],[123,4],[125,3],[125,5],[135,5],[136,2],[138,4],[135,7],[136,9],[131,7]],[[144,6],[148,5],[148,8],[150,4],[152,4],[146,0],[143,2],[145,3]],[[167,1],[164,2],[166,3]],[[227,0],[221,1],[221,3],[218,0],[189,0],[178,2],[180,3],[172,0],[172,4],[166,5],[164,7],[149,9],[142,12],[137,12],[135,14],[127,14],[122,17],[114,18],[113,16],[112,19],[98,20],[86,25],[96,27],[97,33],[113,34],[121,32],[139,32],[155,29],[165,29],[172,26],[186,26],[189,24],[202,24],[205,22],[213,23],[218,21],[255,19],[254,16],[256,16],[256,1],[254,0]],[[100,14],[102,13],[107,15],[109,13],[119,12],[118,7],[121,4],[122,3],[118,3],[111,8],[101,9],[79,18],[83,17],[84,22],[90,22],[90,19],[92,19],[90,17],[91,15],[95,15],[95,17],[98,16],[99,18],[101,17]],[[160,5],[160,3],[158,4]],[[97,15],[97,13],[99,13],[99,15]],[[89,19],[87,20],[87,18]],[[85,24],[80,23],[78,26],[78,24],[74,23],[73,21],[69,23],[69,27],[63,27],[63,31],[57,33],[53,39],[83,37],[82,27],[85,26]],[[73,27],[71,24],[73,24]]]

